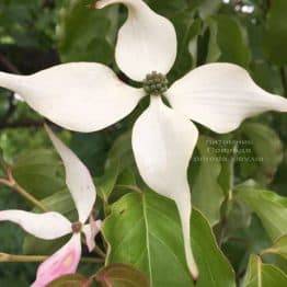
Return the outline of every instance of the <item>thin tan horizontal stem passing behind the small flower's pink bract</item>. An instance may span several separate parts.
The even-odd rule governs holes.
[[[48,255],[14,255],[8,253],[0,253],[0,262],[43,262],[47,260]],[[103,259],[82,257],[81,262],[84,263],[103,263]]]

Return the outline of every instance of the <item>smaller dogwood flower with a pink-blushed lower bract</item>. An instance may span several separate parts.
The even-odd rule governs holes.
[[[101,220],[91,219],[89,225],[84,225],[96,196],[88,169],[49,128],[47,133],[64,161],[66,183],[76,204],[79,221],[72,223],[59,213],[54,211],[45,214],[22,210],[0,211],[0,221],[8,220],[18,223],[36,238],[53,240],[72,233],[66,245],[39,265],[33,287],[47,286],[48,283],[62,275],[74,273],[81,259],[81,232],[85,236],[89,251],[92,251],[95,244],[94,237],[101,227]]]

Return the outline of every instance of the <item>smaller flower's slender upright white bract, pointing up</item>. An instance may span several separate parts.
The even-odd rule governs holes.
[[[79,220],[84,223],[95,202],[95,187],[87,167],[67,148],[46,126],[55,148],[60,154],[66,170],[66,183],[79,213]]]

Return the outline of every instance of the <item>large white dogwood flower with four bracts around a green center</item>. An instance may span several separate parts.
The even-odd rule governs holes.
[[[99,0],[102,9],[123,3],[128,18],[120,27],[115,59],[136,89],[101,64],[59,65],[32,76],[0,73],[0,85],[20,94],[51,122],[77,131],[96,131],[127,116],[148,95],[150,105],[133,130],[139,172],[156,192],[175,200],[183,227],[187,265],[198,271],[191,249],[191,193],[186,171],[197,142],[193,119],[214,131],[229,133],[246,117],[287,112],[287,100],[265,92],[249,73],[231,64],[209,64],[188,72],[168,89],[167,73],[176,58],[173,24],[142,0]],[[169,107],[162,102],[165,96]]]

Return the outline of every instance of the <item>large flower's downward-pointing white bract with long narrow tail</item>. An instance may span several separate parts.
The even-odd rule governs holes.
[[[191,250],[191,194],[187,168],[198,131],[188,118],[151,96],[150,106],[138,118],[133,130],[133,149],[140,175],[163,196],[175,200],[184,230],[188,267],[196,278],[196,264]]]

